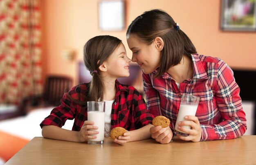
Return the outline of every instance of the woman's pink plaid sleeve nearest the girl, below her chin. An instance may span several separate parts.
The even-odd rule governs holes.
[[[150,76],[148,74],[143,73],[142,77],[149,112],[153,114],[154,117],[162,115],[159,92],[153,88],[153,85],[150,81]]]

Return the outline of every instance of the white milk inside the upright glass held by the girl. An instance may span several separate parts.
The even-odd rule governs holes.
[[[94,126],[98,127],[99,134],[91,134],[91,136],[97,136],[96,139],[89,139],[89,141],[103,141],[104,140],[104,126],[105,126],[105,112],[88,112],[88,121],[93,121]]]

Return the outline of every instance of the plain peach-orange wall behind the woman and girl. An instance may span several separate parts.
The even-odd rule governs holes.
[[[220,0],[127,0],[126,29],[106,32],[98,28],[99,0],[42,0],[43,78],[48,74],[69,75],[76,80],[76,62],[83,60],[83,45],[95,35],[114,35],[126,43],[128,24],[150,9],[167,11],[190,37],[198,53],[219,57],[231,67],[256,69],[256,33],[224,32],[220,29]],[[63,49],[76,51],[68,62]],[[76,84],[77,81],[74,82]]]

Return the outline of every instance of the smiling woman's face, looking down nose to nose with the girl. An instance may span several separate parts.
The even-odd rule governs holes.
[[[137,62],[144,73],[149,74],[159,67],[161,51],[157,49],[155,41],[148,45],[137,35],[130,35],[127,43],[132,51],[132,62]]]

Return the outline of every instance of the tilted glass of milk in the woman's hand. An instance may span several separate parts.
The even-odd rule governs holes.
[[[187,116],[187,115],[195,116],[196,110],[198,108],[199,101],[200,101],[200,97],[189,95],[189,94],[186,94],[186,93],[184,93],[182,95],[182,99],[181,99],[181,103],[180,103],[180,109],[179,109],[179,112],[178,112],[178,116],[177,116],[177,120],[176,120],[175,128],[174,128],[174,133],[175,134],[179,134],[179,135],[182,135],[182,136],[189,136],[189,134],[178,130],[178,122],[185,121],[186,119],[184,119],[184,117]],[[190,126],[185,126],[184,125],[182,127],[191,129]]]

